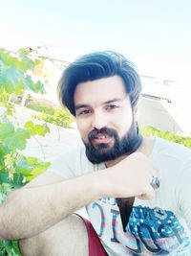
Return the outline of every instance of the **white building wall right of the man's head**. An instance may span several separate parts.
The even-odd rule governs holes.
[[[163,131],[191,136],[191,104],[189,102],[167,102],[141,96],[138,103],[138,123]]]

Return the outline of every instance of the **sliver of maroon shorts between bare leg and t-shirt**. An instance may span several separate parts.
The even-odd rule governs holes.
[[[80,218],[84,221],[88,231],[89,256],[107,256],[108,254],[101,244],[91,222],[82,218],[81,216]]]

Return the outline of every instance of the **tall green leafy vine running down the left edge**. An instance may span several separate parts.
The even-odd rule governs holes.
[[[9,103],[11,94],[22,94],[27,89],[44,93],[41,81],[32,81],[32,70],[42,58],[36,57],[31,48],[11,53],[0,48],[0,204],[12,190],[20,188],[33,177],[44,172],[49,163],[22,151],[34,135],[44,136],[48,126],[35,125],[31,121],[24,127],[12,122],[14,109]],[[16,241],[0,241],[0,255],[21,255]]]

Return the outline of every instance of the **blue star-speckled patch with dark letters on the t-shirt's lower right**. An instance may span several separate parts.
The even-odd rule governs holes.
[[[135,240],[131,239],[132,236]],[[183,226],[174,213],[158,207],[133,207],[126,227],[126,237],[132,242],[128,248],[137,254],[169,255],[178,248],[190,244]]]

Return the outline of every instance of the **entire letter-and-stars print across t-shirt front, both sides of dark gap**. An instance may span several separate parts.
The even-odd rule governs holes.
[[[101,198],[89,205],[88,213],[101,240],[109,239],[111,248],[116,246],[124,253],[120,255],[189,255],[190,239],[172,211],[134,206],[125,232],[115,198]]]

